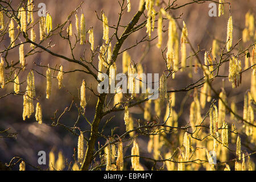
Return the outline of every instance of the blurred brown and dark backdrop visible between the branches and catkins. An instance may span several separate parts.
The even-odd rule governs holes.
[[[162,1],[162,0],[160,0]],[[16,7],[20,1],[13,1],[13,6]],[[57,24],[64,22],[71,11],[75,10],[81,3],[81,1],[67,1],[67,0],[56,0],[56,1],[43,1],[36,0],[34,1],[35,10],[38,9],[37,6],[40,2],[46,4],[47,11],[52,16],[53,27],[57,26]],[[164,1],[168,3],[168,1]],[[189,1],[178,0],[175,3],[180,6]],[[242,38],[242,30],[245,28],[245,14],[250,11],[255,14],[256,3],[255,0],[232,0],[231,3],[231,11],[230,13],[233,16],[233,45],[238,42],[239,39]],[[182,21],[187,24],[188,29],[188,39],[191,41],[192,46],[197,49],[197,45],[200,46],[200,49],[203,49],[199,53],[199,57],[201,60],[204,58],[205,50],[210,51],[212,47],[213,39],[220,40],[218,41],[218,45],[220,48],[224,46],[226,41],[226,25],[229,18],[229,6],[225,4],[225,13],[221,17],[210,17],[208,15],[208,11],[210,10],[208,5],[210,2],[205,3],[193,3],[191,5],[187,5],[181,7],[177,10],[171,10],[170,13],[174,18],[177,18],[177,24],[182,27]],[[138,0],[131,0],[131,12],[127,13],[127,10],[123,12],[123,16],[121,19],[121,25],[127,25],[131,18],[133,18],[134,14],[137,12],[139,6]],[[162,6],[165,6],[164,3]],[[118,13],[120,11],[120,7],[117,0],[86,0],[81,5],[82,11],[85,14],[86,21],[86,29],[89,27],[94,28],[94,45],[101,46],[102,45],[102,22],[97,19],[96,12],[100,15],[101,10],[104,10],[105,15],[108,17],[109,25],[113,26],[117,24]],[[218,7],[218,6],[217,6]],[[157,7],[158,8],[158,7]],[[156,9],[158,11],[158,9]],[[218,12],[218,11],[217,11]],[[78,9],[77,15],[80,17],[81,9]],[[180,17],[180,18],[179,18]],[[38,19],[38,14],[34,13],[35,20]],[[144,16],[139,20],[142,22],[146,20]],[[76,34],[75,28],[75,15],[71,18],[71,23],[73,24],[73,34]],[[67,28],[67,27],[65,27]],[[167,30],[168,22],[164,21],[164,30]],[[39,24],[34,27],[36,31],[36,40],[39,42]],[[122,29],[119,30],[118,34],[122,34]],[[180,35],[180,30],[178,31]],[[65,31],[64,31],[65,33]],[[110,34],[113,34],[113,29],[110,28]],[[131,34],[129,38],[123,44],[121,51],[123,49],[129,48],[133,46],[137,41],[141,40],[146,35],[146,28],[142,28]],[[157,35],[157,30],[152,33],[151,38],[155,38]],[[89,36],[86,37],[88,40]],[[24,41],[21,38],[22,41]],[[49,40],[44,43],[44,46],[51,40],[51,45],[54,45],[51,50],[60,55],[65,55],[67,57],[71,57],[71,51],[69,48],[69,44],[67,40],[63,40],[59,37],[59,35],[52,36]],[[75,36],[72,37],[73,41],[75,41]],[[163,37],[163,46],[164,49],[168,40],[167,32],[164,33]],[[255,40],[250,40],[247,43],[238,44],[238,49],[244,49],[248,47]],[[113,39],[112,46],[114,46],[116,40]],[[5,48],[5,46],[9,46],[10,39],[8,35],[6,35],[5,39],[0,43],[1,50]],[[137,47],[129,49],[127,52],[131,56],[131,59],[138,63],[141,61],[144,69],[144,73],[159,73],[162,75],[163,71],[166,69],[163,57],[161,55],[161,51],[156,48],[155,44],[157,43],[157,39],[152,42],[143,42],[139,44]],[[30,46],[27,44],[24,46],[24,51],[27,53],[30,50]],[[144,53],[146,52],[146,55]],[[237,50],[234,50],[236,53]],[[251,49],[250,49],[251,52]],[[220,53],[220,50],[218,50]],[[91,52],[89,44],[80,45],[78,44],[75,49],[76,59],[79,60],[80,56],[85,56],[87,60],[90,59]],[[164,54],[165,55],[165,54]],[[189,46],[187,46],[187,55],[193,55]],[[18,61],[19,59],[19,51],[18,47],[14,48],[9,52],[8,60]],[[217,56],[217,59],[219,56]],[[192,61],[195,60],[195,57],[189,58]],[[241,58],[242,68],[244,67],[244,57]],[[53,57],[49,55],[49,53],[42,52],[36,53],[35,55],[31,55],[26,57],[27,69],[26,71],[20,73],[19,79],[20,82],[26,81],[27,73],[31,68],[36,69],[39,73],[43,73],[45,75],[47,68],[37,67],[36,64],[47,65],[49,64],[51,67],[59,68],[59,64],[63,65],[64,71],[69,71],[72,69],[82,69],[79,65],[75,65],[72,63],[68,63],[65,60],[59,59],[57,57]],[[94,65],[97,67],[98,59],[97,56],[94,59]],[[188,65],[188,61],[187,61]],[[122,55],[119,55],[117,58],[117,67],[118,72],[122,72]],[[191,69],[187,68],[184,72],[176,73],[176,78],[172,80],[171,78],[168,80],[168,90],[172,89],[181,89],[185,86],[191,84],[192,82],[197,81],[199,78],[203,76],[202,72],[194,73],[192,77],[188,77],[188,72]],[[14,156],[21,156],[26,162],[31,163],[34,166],[38,166],[38,151],[46,151],[47,154],[47,165],[40,166],[42,169],[48,168],[48,154],[49,151],[53,150],[55,152],[55,158],[57,158],[57,154],[59,151],[63,152],[65,158],[68,161],[72,160],[72,155],[74,148],[77,147],[77,135],[69,133],[64,127],[51,127],[51,118],[54,117],[54,113],[57,111],[57,117],[64,111],[65,107],[70,106],[72,100],[74,100],[74,104],[71,107],[71,110],[66,113],[61,119],[60,122],[67,125],[73,126],[77,119],[77,108],[76,104],[79,106],[79,89],[82,84],[82,80],[85,79],[87,84],[92,84],[93,88],[96,89],[96,82],[92,77],[85,75],[84,73],[69,73],[64,75],[64,86],[65,88],[59,89],[57,86],[57,79],[52,79],[52,93],[50,99],[46,99],[46,78],[34,72],[35,74],[35,85],[36,85],[36,96],[39,97],[39,102],[42,105],[43,109],[43,124],[38,125],[35,121],[34,116],[30,119],[26,119],[23,121],[22,112],[23,112],[23,96],[14,96],[10,95],[4,97],[0,100],[0,131],[10,128],[9,132],[18,133],[16,138],[0,138],[0,161],[3,163],[9,163],[11,158]],[[55,77],[57,73],[55,72]],[[228,63],[224,64],[221,67],[220,75],[228,76]],[[221,86],[225,84],[225,91],[228,97],[228,103],[235,100],[238,114],[242,115],[243,110],[243,96],[246,90],[250,89],[250,75],[251,70],[243,73],[242,76],[242,84],[236,89],[232,89],[231,83],[228,81],[228,78],[224,79],[224,83],[222,78],[216,78],[213,81],[214,88],[220,92]],[[21,85],[20,90],[26,89],[26,82]],[[0,96],[5,95],[6,93],[13,92],[13,84],[7,84],[5,89],[0,89]],[[96,90],[97,92],[97,90]],[[180,109],[180,104],[183,98],[187,95],[187,92],[179,92],[176,93],[176,112]],[[189,107],[192,102],[193,92],[189,93],[189,98],[185,102],[184,112],[178,120],[179,126],[183,126],[188,122],[189,119]],[[212,95],[212,98],[216,98],[216,96]],[[92,92],[89,90],[86,91],[86,100],[88,100],[88,105],[86,106],[86,117],[89,121],[92,121],[95,112],[96,106],[96,97],[93,96]],[[36,102],[34,102],[34,105]],[[205,106],[205,110],[201,111],[201,114],[204,115],[205,112],[209,109],[209,103]],[[165,110],[165,109],[164,109]],[[139,106],[133,107],[130,109],[130,113],[133,116],[134,120],[143,118],[143,111],[139,109]],[[118,127],[116,132],[118,134],[122,134],[125,132],[125,124],[123,121],[123,112],[114,113],[114,120],[106,127],[106,131],[104,134],[111,135],[111,129],[113,127]],[[229,118],[229,114],[227,115]],[[101,126],[105,123],[107,118],[104,118],[101,122]],[[228,121],[230,122],[230,121]],[[231,121],[232,122],[232,121]],[[241,124],[237,121],[233,121],[239,127]],[[80,118],[79,127],[82,130],[89,129],[88,123],[84,118]],[[77,133],[79,134],[79,133]],[[139,137],[139,146],[140,152],[144,156],[151,156],[146,151],[148,137]],[[104,144],[105,140],[100,139],[100,144]],[[230,146],[233,149],[235,146]],[[255,145],[254,145],[255,147]],[[126,148],[126,155],[130,155],[130,148]],[[255,151],[255,148],[254,148]],[[234,156],[230,156],[230,159],[233,159]],[[251,158],[255,162],[255,155],[251,156]],[[150,165],[147,163],[148,161],[141,159],[141,163],[145,169],[150,169]],[[15,168],[18,169],[18,166]],[[27,169],[33,169],[27,166]],[[67,168],[66,168],[67,169]],[[127,168],[130,169],[130,160],[127,160]]]

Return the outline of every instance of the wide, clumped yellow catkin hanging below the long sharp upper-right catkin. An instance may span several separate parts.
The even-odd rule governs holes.
[[[236,88],[241,84],[241,61],[236,57],[229,60],[229,81],[232,82],[232,88]]]

